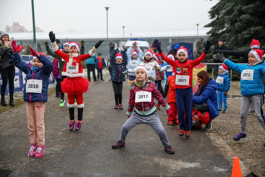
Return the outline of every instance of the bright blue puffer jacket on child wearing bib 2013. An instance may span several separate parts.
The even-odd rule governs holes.
[[[264,86],[262,83],[262,80],[265,75],[265,66],[264,61],[261,61],[259,64],[254,66],[249,66],[248,64],[240,65],[233,63],[229,59],[225,60],[225,65],[231,68],[232,70],[235,70],[237,72],[240,72],[242,74],[243,70],[245,69],[253,69],[253,80],[240,80],[240,88],[241,88],[241,95],[244,96],[251,96],[251,95],[257,95],[257,94],[263,94],[264,93]]]

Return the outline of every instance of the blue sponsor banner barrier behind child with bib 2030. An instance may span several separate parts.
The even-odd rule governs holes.
[[[32,56],[31,55],[20,55],[22,61],[25,61],[26,63],[32,63]],[[52,60],[52,56],[47,56],[49,60]],[[20,69],[16,68],[15,71],[15,78],[14,78],[14,93],[23,91],[24,87],[26,86],[26,74],[23,73]],[[53,78],[53,73],[51,73],[49,78],[49,84],[54,84],[55,79]],[[0,89],[2,87],[2,77],[0,74]],[[9,94],[9,84],[7,83],[7,88],[5,95]]]

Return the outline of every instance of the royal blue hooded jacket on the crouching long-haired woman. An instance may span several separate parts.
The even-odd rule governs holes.
[[[198,90],[200,86],[201,85],[199,85]],[[200,104],[206,102],[207,107],[209,109],[210,120],[219,116],[217,95],[216,95],[217,84],[215,80],[210,78],[209,83],[205,85],[204,88],[202,89],[202,93],[200,94],[200,96],[197,96],[198,90],[193,95],[192,98],[193,103]]]

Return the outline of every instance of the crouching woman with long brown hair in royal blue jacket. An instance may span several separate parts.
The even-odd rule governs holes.
[[[196,93],[193,95],[192,101],[195,104],[207,103],[210,114],[210,122],[206,124],[205,130],[212,129],[212,120],[219,116],[218,102],[217,102],[217,84],[214,79],[209,78],[206,71],[200,71],[197,74],[199,86]]]

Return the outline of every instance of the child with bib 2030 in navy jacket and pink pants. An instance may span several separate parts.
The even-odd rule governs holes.
[[[44,138],[44,111],[48,100],[49,77],[52,72],[52,62],[41,52],[36,52],[30,47],[30,55],[33,56],[32,64],[21,60],[17,53],[19,45],[12,41],[13,64],[26,74],[26,86],[24,87],[24,101],[28,118],[28,132],[30,137],[30,157],[40,158],[45,150]]]

